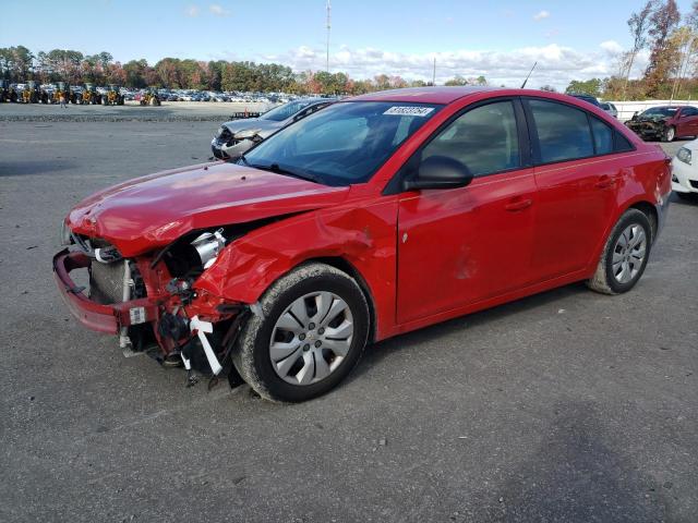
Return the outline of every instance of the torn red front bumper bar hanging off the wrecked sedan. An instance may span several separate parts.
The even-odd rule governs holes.
[[[70,273],[76,269],[86,269],[92,259],[82,252],[63,250],[53,256],[53,278],[73,316],[85,327],[98,332],[119,335],[124,327],[151,321],[159,317],[159,303],[152,297],[142,297],[109,305],[89,300],[85,289],[75,284]]]

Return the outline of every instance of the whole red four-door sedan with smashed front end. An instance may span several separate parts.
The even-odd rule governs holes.
[[[369,342],[575,281],[630,290],[670,192],[657,146],[575,98],[392,90],[318,111],[237,163],[85,199],[53,269],[75,317],[125,349],[302,401]],[[74,269],[88,269],[87,293]]]

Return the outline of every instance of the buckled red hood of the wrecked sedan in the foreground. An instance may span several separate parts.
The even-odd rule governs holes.
[[[115,185],[77,204],[67,221],[128,257],[196,229],[329,207],[348,192],[233,163],[203,163]]]

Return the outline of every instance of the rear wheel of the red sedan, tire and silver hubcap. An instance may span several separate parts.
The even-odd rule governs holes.
[[[647,215],[638,209],[626,210],[609,234],[597,271],[587,280],[587,287],[603,294],[628,292],[645,272],[652,240]]]

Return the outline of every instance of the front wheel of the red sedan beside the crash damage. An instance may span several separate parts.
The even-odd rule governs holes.
[[[369,305],[357,282],[341,270],[320,263],[301,265],[272,284],[260,306],[262,314],[252,315],[242,329],[232,361],[261,397],[310,400],[336,387],[359,362],[369,335]],[[327,335],[330,329],[334,339]],[[279,357],[273,361],[273,354]]]

